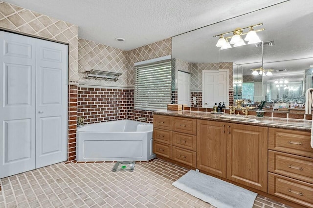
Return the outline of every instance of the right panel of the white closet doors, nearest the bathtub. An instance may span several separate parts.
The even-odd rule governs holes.
[[[67,160],[67,45],[37,39],[36,168]]]

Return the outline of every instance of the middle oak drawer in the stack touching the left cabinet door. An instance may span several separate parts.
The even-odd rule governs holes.
[[[196,151],[196,136],[186,133],[173,132],[172,144],[184,149]]]

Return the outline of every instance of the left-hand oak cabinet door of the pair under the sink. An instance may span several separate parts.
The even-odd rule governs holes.
[[[197,120],[197,169],[226,177],[224,122]]]

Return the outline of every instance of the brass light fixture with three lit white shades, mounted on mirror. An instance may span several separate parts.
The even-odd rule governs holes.
[[[221,50],[223,50],[223,49],[231,48],[230,44],[234,44],[233,47],[246,45],[245,40],[248,41],[247,44],[261,42],[261,39],[258,37],[256,32],[260,32],[260,31],[263,31],[265,29],[264,28],[259,29],[259,30],[254,30],[253,29],[253,27],[260,26],[260,25],[263,25],[263,23],[251,25],[251,26],[244,27],[244,28],[236,28],[233,31],[229,31],[229,32],[226,32],[226,33],[215,35],[213,37],[220,37],[219,40],[216,43],[216,47],[221,47]],[[248,28],[249,28],[249,31],[245,33],[244,30],[248,29]],[[226,37],[226,38],[224,37],[224,35],[227,35],[227,34],[230,34],[230,33],[232,34],[232,36]],[[246,35],[245,40],[241,37],[241,36],[244,36],[244,35]],[[227,39],[229,39],[229,38],[231,38],[231,39],[228,42]]]

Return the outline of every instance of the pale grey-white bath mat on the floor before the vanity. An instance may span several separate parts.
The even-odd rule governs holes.
[[[258,195],[195,170],[189,170],[172,185],[217,208],[252,208]]]

